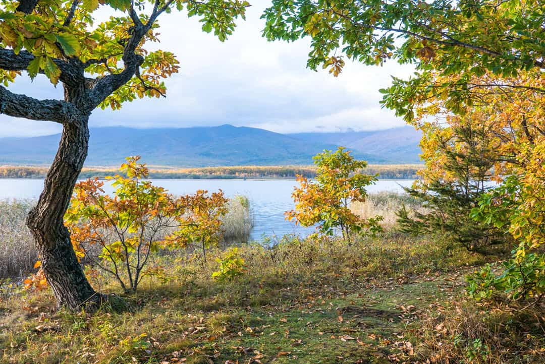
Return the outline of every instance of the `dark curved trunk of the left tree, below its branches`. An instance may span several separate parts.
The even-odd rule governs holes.
[[[44,191],[27,219],[57,305],[71,310],[99,304],[102,299],[83,274],[72,249],[70,233],[64,226],[64,213],[87,157],[88,142],[87,118],[64,124],[57,155],[45,178]]]

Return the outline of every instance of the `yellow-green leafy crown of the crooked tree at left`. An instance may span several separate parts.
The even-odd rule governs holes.
[[[157,20],[161,14],[184,10],[187,16],[199,18],[204,32],[214,32],[224,41],[249,6],[239,0],[2,0],[0,4],[0,81],[4,86],[27,71],[32,78],[43,73],[54,85],[59,81],[65,87],[84,85],[87,96],[83,110],[74,110],[64,102],[39,104],[2,88],[1,112],[58,122],[63,120],[62,114],[54,115],[57,110],[118,109],[135,98],[165,95],[164,79],[178,72],[178,60],[172,52],[146,49],[160,39]],[[105,7],[111,8],[112,16],[95,23],[95,11]],[[36,107],[34,113],[17,109],[24,101]]]

